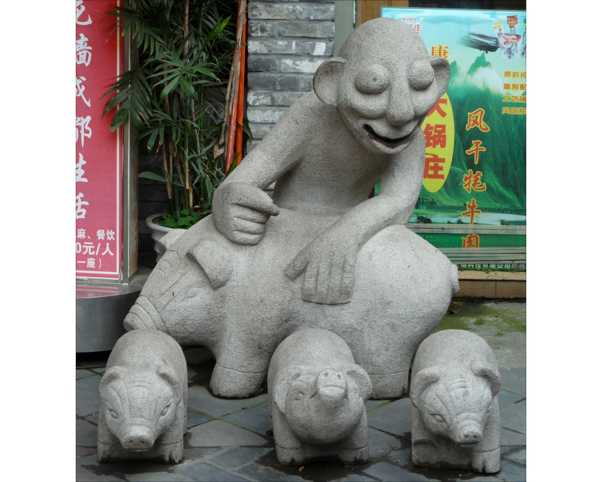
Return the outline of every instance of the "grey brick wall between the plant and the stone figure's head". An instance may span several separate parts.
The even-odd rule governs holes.
[[[332,57],[335,1],[250,1],[248,12],[247,119],[253,133],[250,151],[287,107],[312,89],[315,70]]]

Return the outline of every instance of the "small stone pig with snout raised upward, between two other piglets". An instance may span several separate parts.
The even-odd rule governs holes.
[[[368,374],[341,337],[300,330],[276,349],[268,371],[270,427],[282,465],[370,462],[364,402]]]

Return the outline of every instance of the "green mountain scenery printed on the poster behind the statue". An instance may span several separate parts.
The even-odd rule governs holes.
[[[445,184],[438,192],[421,189],[417,208],[429,210],[464,210],[466,202],[475,198],[483,212],[526,213],[526,116],[502,114],[503,107],[526,107],[524,102],[503,102],[503,94],[484,84],[477,86],[477,74],[493,77],[495,71],[486,60],[485,52],[476,58],[466,74],[458,64],[450,64],[451,79],[447,95],[452,104],[456,125],[452,167]],[[491,72],[482,72],[489,69]],[[495,74],[497,78],[497,74]],[[500,80],[501,81],[501,80]],[[526,92],[515,92],[526,95]],[[477,127],[466,130],[468,113],[482,108],[483,121],[489,131],[482,132]],[[465,154],[471,149],[473,140],[480,140],[486,151],[479,154],[479,163],[474,163],[473,154]],[[486,190],[468,193],[464,189],[464,175],[468,170],[483,173],[481,181]]]

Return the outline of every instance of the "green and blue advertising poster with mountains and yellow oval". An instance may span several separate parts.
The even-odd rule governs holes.
[[[450,63],[423,124],[423,187],[408,225],[462,269],[524,270],[524,11],[382,8]]]

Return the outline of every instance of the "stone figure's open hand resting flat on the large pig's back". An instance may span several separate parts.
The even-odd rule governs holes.
[[[306,301],[331,305],[351,301],[359,245],[337,231],[320,234],[284,270],[291,280],[305,271],[301,297]]]

